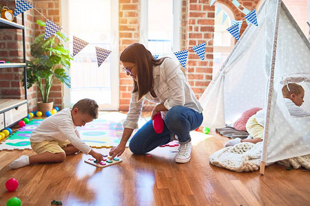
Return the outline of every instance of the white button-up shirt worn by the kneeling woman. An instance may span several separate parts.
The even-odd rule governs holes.
[[[152,97],[148,92],[139,102],[136,101],[138,92],[132,93],[127,118],[123,124],[124,128],[138,128],[138,119],[141,115],[145,99],[150,102],[161,104],[169,110],[174,106],[186,106],[198,113],[203,112],[203,107],[195,97],[195,93],[185,79],[180,65],[174,60],[166,58],[161,65],[153,68],[154,92],[157,98]],[[161,112],[165,117],[166,112]]]

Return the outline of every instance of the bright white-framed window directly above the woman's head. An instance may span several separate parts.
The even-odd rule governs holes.
[[[141,1],[141,43],[161,58],[172,57],[180,49],[179,41],[180,1]]]

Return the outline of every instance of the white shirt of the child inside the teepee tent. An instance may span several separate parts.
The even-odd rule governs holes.
[[[304,111],[300,106],[297,106],[292,100],[284,98],[285,105],[287,105],[287,110],[292,117],[305,117],[310,115],[307,111]],[[265,125],[265,109],[258,111],[255,115],[256,122],[261,126]]]

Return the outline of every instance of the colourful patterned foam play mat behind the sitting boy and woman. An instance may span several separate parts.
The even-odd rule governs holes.
[[[105,113],[99,119],[79,127],[81,139],[92,148],[111,148],[117,146],[121,141],[123,133],[123,114]],[[148,119],[139,122],[144,124]],[[25,150],[31,149],[30,136],[32,131],[39,126],[43,119],[32,119],[28,124],[19,128],[4,141],[0,142],[0,150]],[[134,130],[136,133],[137,130]],[[133,133],[133,134],[134,134]],[[133,136],[133,135],[132,135]],[[129,141],[127,142],[128,146]],[[177,141],[172,141],[166,146],[178,146]]]

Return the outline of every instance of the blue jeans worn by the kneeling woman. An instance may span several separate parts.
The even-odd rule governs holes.
[[[173,133],[180,144],[191,141],[189,131],[203,123],[203,114],[185,106],[174,106],[165,115],[163,133],[157,134],[152,119],[145,123],[132,137],[129,147],[134,154],[144,154],[173,140]]]

